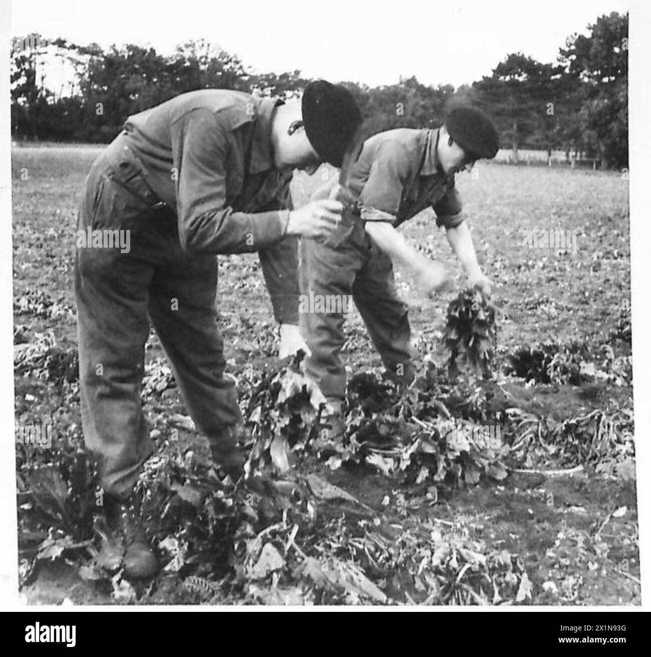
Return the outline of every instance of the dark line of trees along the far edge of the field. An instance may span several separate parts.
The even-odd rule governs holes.
[[[612,12],[572,34],[557,62],[511,53],[490,76],[455,89],[416,78],[368,87],[344,82],[364,117],[379,129],[440,125],[450,104],[472,102],[497,124],[501,147],[583,153],[602,166],[628,165],[628,14]],[[56,63],[62,66],[56,66]],[[53,91],[52,68],[70,71]],[[204,40],[171,55],[138,45],[102,49],[40,35],[14,37],[11,125],[14,139],[108,143],[125,119],[180,93],[207,87],[291,97],[309,79],[299,70],[253,72],[240,58]]]

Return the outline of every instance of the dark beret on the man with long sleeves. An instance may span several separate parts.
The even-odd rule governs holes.
[[[362,113],[350,91],[325,80],[310,82],[302,101],[303,125],[320,158],[341,167],[344,152],[362,123]]]

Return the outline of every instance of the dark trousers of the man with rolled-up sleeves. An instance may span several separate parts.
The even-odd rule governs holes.
[[[413,380],[407,306],[398,298],[389,256],[379,250],[360,221],[345,214],[332,237],[301,238],[299,281],[303,302],[299,326],[312,352],[305,359],[305,373],[324,396],[343,399],[346,393],[341,359],[346,309],[342,303],[343,312],[339,311],[337,298],[349,302],[352,297],[389,376],[397,382]],[[321,311],[315,303],[317,312],[305,311],[310,300],[320,301],[326,309]]]

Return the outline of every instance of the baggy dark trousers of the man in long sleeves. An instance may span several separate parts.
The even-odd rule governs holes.
[[[104,491],[123,499],[153,452],[139,396],[150,320],[208,440],[242,419],[223,374],[217,257],[184,252],[175,213],[156,201],[118,138],[91,168],[77,224],[77,236],[89,226],[129,231],[128,252],[77,242],[75,261],[85,443]]]

